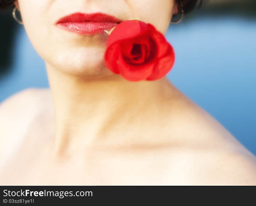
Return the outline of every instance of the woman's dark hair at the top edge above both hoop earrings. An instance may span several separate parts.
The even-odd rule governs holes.
[[[13,7],[15,0],[0,0],[0,9]],[[36,1],[36,0],[35,0]],[[179,12],[188,13],[197,5],[202,3],[202,0],[175,0]]]

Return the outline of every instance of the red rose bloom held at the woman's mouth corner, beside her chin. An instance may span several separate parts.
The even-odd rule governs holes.
[[[157,80],[173,67],[174,50],[163,34],[138,20],[119,23],[109,35],[106,67],[129,81]]]

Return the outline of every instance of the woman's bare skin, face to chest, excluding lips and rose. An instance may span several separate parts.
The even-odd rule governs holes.
[[[255,157],[166,77],[126,81],[104,64],[106,33],[55,24],[104,12],[165,34],[175,2],[15,1],[50,90],[24,90],[0,105],[1,185],[256,185]]]

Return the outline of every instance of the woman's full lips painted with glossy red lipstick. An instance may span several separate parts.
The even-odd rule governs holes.
[[[96,34],[111,30],[121,21],[103,13],[85,14],[76,12],[62,17],[56,25],[70,32],[79,34]]]

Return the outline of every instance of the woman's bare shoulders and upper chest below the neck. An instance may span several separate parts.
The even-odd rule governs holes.
[[[255,157],[166,78],[158,82],[161,93],[127,98],[104,124],[85,116],[81,136],[55,133],[51,90],[8,98],[0,107],[1,184],[255,185]]]

